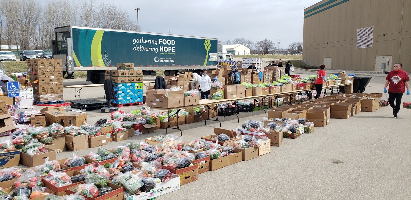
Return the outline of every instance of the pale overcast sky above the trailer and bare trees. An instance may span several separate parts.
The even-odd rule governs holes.
[[[256,42],[265,38],[287,48],[291,42],[302,42],[304,7],[320,0],[116,0],[129,10],[139,7],[141,31],[199,37],[221,41],[242,37]],[[113,0],[96,0],[109,2]]]

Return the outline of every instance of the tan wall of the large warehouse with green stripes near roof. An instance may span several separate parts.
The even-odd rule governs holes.
[[[369,26],[372,47],[356,49],[357,29]],[[376,56],[392,56],[390,70],[400,62],[410,72],[411,0],[323,0],[304,10],[303,43],[315,65],[332,58],[335,69],[374,71]]]

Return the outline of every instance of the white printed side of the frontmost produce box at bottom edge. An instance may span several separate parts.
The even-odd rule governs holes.
[[[160,182],[155,185],[155,188],[151,189],[149,192],[142,192],[138,195],[126,196],[124,195],[124,200],[147,200],[154,199],[161,195],[170,193],[180,189],[180,177],[176,174],[171,175],[171,180],[167,182]]]

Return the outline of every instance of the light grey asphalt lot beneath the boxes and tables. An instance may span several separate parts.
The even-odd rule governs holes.
[[[316,74],[316,70],[295,73],[307,76]],[[381,75],[369,74],[372,79],[365,93],[382,93],[385,75]],[[64,85],[83,82],[64,80]],[[65,88],[64,98],[74,99],[74,89]],[[104,90],[84,88],[81,98],[103,99]],[[139,108],[121,109],[130,112]],[[110,117],[98,111],[87,113],[88,123]],[[247,120],[260,120],[265,114],[260,110],[253,116],[242,112],[238,116],[240,123],[235,115],[228,116],[222,128],[236,128]],[[410,199],[411,111],[401,108],[398,117],[393,119],[392,109],[383,107],[346,120],[331,119],[330,125],[316,127],[313,133],[296,139],[283,138],[283,144],[271,147],[271,153],[200,174],[197,181],[158,199]],[[194,140],[213,133],[213,127],[218,125],[209,121],[205,126],[201,121],[180,128],[186,140]],[[165,130],[134,136],[131,140],[141,141],[160,134],[165,134]],[[105,148],[113,149],[122,143],[110,142]],[[75,153],[86,155],[90,151],[96,152],[97,148]],[[72,153],[58,153],[57,159]]]

